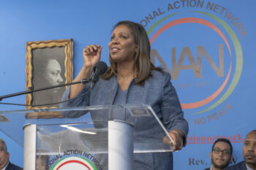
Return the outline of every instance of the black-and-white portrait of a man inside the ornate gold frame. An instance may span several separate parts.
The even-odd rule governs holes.
[[[34,89],[60,85],[64,77],[64,47],[38,48],[33,50],[33,85]],[[61,101],[65,87],[52,88],[33,93],[33,105],[50,104]],[[53,104],[52,107],[59,107]]]

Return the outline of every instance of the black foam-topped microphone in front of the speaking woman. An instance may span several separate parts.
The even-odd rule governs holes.
[[[104,74],[108,69],[108,66],[105,62],[99,61],[94,65],[94,74],[91,77],[91,89],[94,88],[95,83],[99,80],[99,76]]]

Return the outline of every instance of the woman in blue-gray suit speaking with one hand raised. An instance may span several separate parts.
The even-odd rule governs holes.
[[[173,150],[181,150],[186,144],[188,123],[184,119],[176,90],[170,82],[170,74],[151,63],[146,30],[138,23],[120,21],[113,28],[108,47],[110,66],[94,89],[83,98],[65,102],[63,106],[148,104],[173,138]],[[99,45],[89,45],[83,49],[83,68],[74,81],[91,76],[101,51]],[[85,93],[89,90],[87,86],[72,85],[64,93],[63,100]],[[154,129],[148,122],[143,123],[143,128]],[[136,170],[173,169],[172,152],[141,153],[134,159]]]

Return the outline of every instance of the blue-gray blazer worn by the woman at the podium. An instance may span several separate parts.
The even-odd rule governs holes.
[[[135,85],[135,81],[130,83],[127,92],[127,104],[150,105],[159,117],[159,120],[165,125],[167,131],[171,131],[172,129],[180,129],[183,131],[185,135],[184,144],[186,144],[188,123],[187,120],[184,119],[184,113],[182,112],[176,90],[170,82],[170,74],[159,71],[151,71],[151,74],[152,77],[149,77],[143,86]],[[86,85],[86,88],[84,88],[80,94],[86,93],[88,90],[89,85]],[[65,102],[62,104],[62,107],[112,105],[117,91],[118,81],[116,76],[111,77],[110,80],[99,79],[99,82],[96,83],[94,89],[91,90],[88,95],[83,98]],[[69,88],[64,93],[62,99],[67,100],[68,96]],[[72,114],[65,114],[64,116],[79,117],[80,113],[73,112]],[[94,117],[92,117],[92,119],[94,119]],[[148,122],[143,122],[145,120],[140,121],[141,131],[151,129],[151,134],[154,134],[154,128],[152,128],[154,125]],[[142,155],[138,157],[143,157],[152,163],[152,165],[148,166],[148,169],[164,170],[172,169],[173,166],[171,152],[151,153],[151,155]],[[141,168],[138,169],[147,168],[141,166]]]

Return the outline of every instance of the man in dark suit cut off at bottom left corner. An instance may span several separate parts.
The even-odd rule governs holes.
[[[4,140],[0,138],[0,169],[5,170],[23,170],[19,166],[10,163],[9,161],[10,153],[7,152],[7,145]]]

